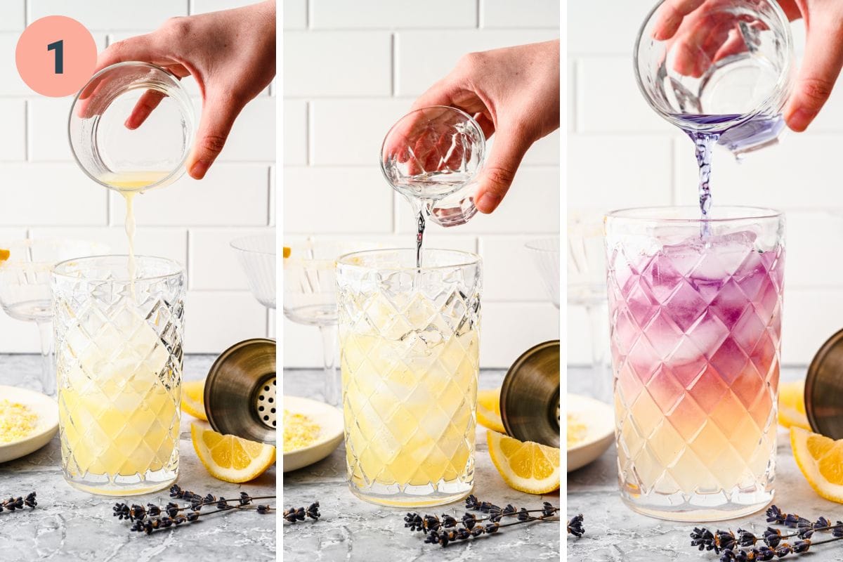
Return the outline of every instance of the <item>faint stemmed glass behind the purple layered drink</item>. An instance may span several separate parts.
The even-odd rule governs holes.
[[[567,242],[567,301],[585,308],[591,340],[592,395],[609,401],[609,310],[602,215],[570,215]]]

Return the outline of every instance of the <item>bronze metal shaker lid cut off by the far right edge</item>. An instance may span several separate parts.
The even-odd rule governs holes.
[[[805,377],[805,412],[814,432],[843,438],[843,329],[813,356]]]

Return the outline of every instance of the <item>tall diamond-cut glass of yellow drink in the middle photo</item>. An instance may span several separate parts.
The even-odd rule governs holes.
[[[481,260],[416,249],[337,262],[349,486],[386,506],[436,506],[474,485]]]

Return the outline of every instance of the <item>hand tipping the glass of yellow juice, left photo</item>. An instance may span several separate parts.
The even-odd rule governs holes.
[[[99,54],[94,72],[117,62],[141,61],[178,78],[192,75],[202,95],[202,113],[185,165],[188,174],[201,179],[223,150],[244,105],[275,77],[275,28],[275,0],[172,18],[152,33],[110,45]],[[126,127],[141,126],[161,99],[153,90],[144,93]]]

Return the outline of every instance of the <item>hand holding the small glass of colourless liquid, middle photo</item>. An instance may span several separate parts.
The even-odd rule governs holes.
[[[412,109],[432,105],[464,110],[486,137],[496,136],[475,195],[478,211],[494,211],[527,149],[559,128],[559,40],[463,56]]]

